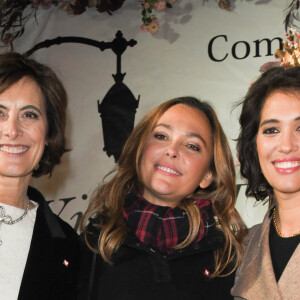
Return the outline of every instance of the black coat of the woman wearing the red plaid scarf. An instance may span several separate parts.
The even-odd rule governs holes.
[[[90,240],[97,243],[99,231],[90,226]],[[145,245],[127,240],[113,257],[113,265],[94,254],[86,264],[90,291],[85,300],[226,300],[234,274],[210,279],[213,250],[224,244],[223,234],[213,231],[199,244],[161,255]],[[89,294],[90,293],[90,294]]]

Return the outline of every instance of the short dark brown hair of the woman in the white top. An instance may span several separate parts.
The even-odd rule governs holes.
[[[19,53],[0,55],[0,94],[23,77],[33,79],[40,87],[45,99],[47,114],[47,145],[33,177],[52,173],[60,163],[65,149],[65,126],[67,94],[56,74],[47,66]]]

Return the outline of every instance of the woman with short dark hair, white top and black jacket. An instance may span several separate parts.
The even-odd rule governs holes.
[[[0,289],[3,299],[75,299],[80,240],[29,187],[66,151],[67,96],[47,66],[0,55]]]

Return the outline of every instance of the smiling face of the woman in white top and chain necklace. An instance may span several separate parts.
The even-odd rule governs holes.
[[[34,80],[24,77],[0,94],[0,177],[30,176],[46,131],[44,97]]]

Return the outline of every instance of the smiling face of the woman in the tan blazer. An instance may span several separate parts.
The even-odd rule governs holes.
[[[276,198],[300,192],[300,93],[274,92],[261,112],[257,153]]]

